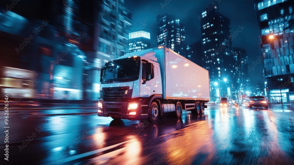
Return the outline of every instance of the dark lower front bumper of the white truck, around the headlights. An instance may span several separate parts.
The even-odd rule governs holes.
[[[127,120],[146,120],[148,119],[148,109],[141,107],[139,100],[128,100],[128,101],[106,101],[99,100],[102,102],[102,108],[98,107],[97,115],[101,117],[116,117]],[[128,110],[129,103],[138,103],[138,107],[133,110]],[[136,112],[135,115],[129,113]]]

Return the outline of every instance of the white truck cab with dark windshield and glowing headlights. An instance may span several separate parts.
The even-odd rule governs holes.
[[[106,62],[101,70],[98,116],[148,119],[146,99],[162,94],[159,65],[149,61],[133,56]]]

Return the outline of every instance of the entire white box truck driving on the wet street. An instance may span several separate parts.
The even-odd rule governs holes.
[[[210,101],[204,68],[160,46],[128,53],[101,69],[98,116],[155,123],[165,113],[203,113]]]

